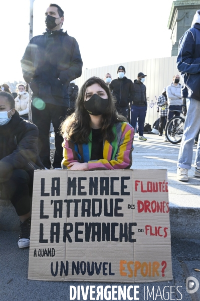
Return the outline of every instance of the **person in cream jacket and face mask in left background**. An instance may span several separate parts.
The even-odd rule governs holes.
[[[18,96],[15,98],[15,108],[19,112],[20,117],[29,120],[29,93],[23,83],[18,85]]]

